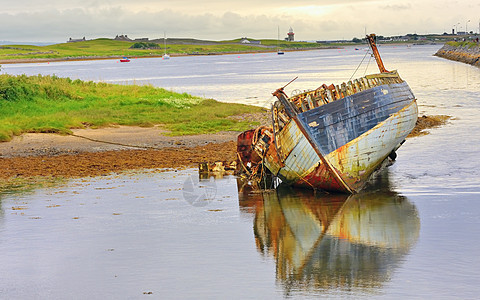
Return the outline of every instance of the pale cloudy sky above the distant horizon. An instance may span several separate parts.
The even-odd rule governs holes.
[[[480,0],[0,0],[0,41],[361,38],[479,31]],[[470,20],[470,22],[469,22]]]

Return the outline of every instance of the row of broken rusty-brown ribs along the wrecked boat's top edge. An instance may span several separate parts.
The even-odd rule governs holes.
[[[316,90],[305,91],[292,96],[289,101],[295,105],[299,112],[305,112],[376,86],[402,82],[403,80],[397,71],[366,75],[347,83],[343,82],[340,85],[331,84],[327,86],[323,84]]]

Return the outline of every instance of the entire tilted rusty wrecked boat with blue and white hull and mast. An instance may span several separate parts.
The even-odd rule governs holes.
[[[391,164],[417,121],[418,107],[397,71],[387,71],[367,36],[380,73],[288,97],[273,95],[272,126],[238,137],[237,166],[250,178],[272,174],[283,184],[356,193]]]

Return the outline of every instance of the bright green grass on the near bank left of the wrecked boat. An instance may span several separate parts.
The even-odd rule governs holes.
[[[241,131],[257,123],[227,117],[259,111],[152,86],[0,75],[0,141],[25,132],[68,134],[72,128],[112,125],[162,124],[171,135]]]

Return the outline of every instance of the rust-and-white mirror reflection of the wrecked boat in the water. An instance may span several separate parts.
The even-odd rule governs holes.
[[[239,184],[242,211],[255,215],[257,249],[275,259],[287,295],[375,294],[391,279],[418,239],[420,219],[415,205],[385,188],[387,176],[350,196]]]

